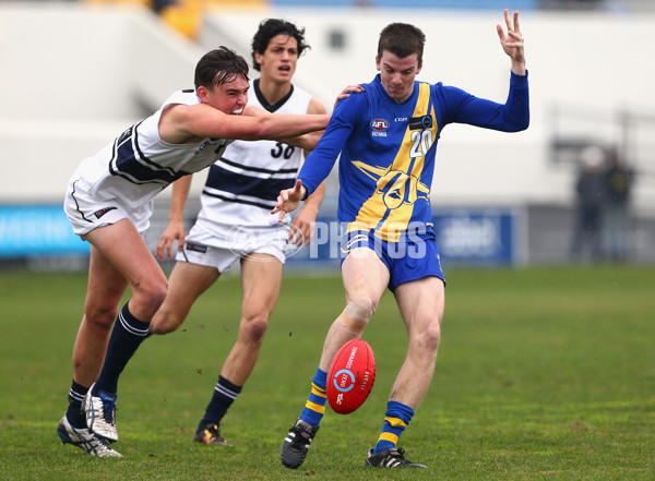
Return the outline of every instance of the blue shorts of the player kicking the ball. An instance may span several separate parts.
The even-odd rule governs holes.
[[[392,292],[401,284],[430,276],[439,277],[445,284],[439,248],[431,230],[403,236],[398,242],[383,241],[373,230],[348,232],[342,239],[341,262],[357,248],[370,249],[384,263]]]

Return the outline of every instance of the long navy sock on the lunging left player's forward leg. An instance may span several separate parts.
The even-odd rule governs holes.
[[[139,321],[130,313],[128,305],[129,302],[123,305],[114,323],[105,363],[93,388],[94,395],[100,390],[117,393],[120,373],[147,335],[150,322]]]

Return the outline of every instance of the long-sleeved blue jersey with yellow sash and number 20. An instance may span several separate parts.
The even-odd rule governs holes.
[[[516,132],[529,122],[527,75],[512,73],[504,105],[441,83],[415,82],[402,104],[386,94],[379,75],[364,87],[336,105],[298,178],[313,192],[341,153],[340,221],[348,232],[374,230],[385,241],[430,225],[434,154],[446,124]]]

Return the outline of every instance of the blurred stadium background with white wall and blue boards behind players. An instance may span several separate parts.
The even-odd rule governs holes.
[[[329,109],[345,85],[372,80],[379,32],[394,21],[427,35],[418,80],[504,101],[509,60],[496,34],[503,8],[521,12],[532,123],[511,135],[443,131],[431,201],[445,265],[655,262],[655,2],[405,3],[0,1],[0,267],[84,268],[88,245],[61,208],[76,166],[170,93],[192,87],[206,50],[227,45],[250,61],[263,19],[306,27],[311,49],[295,83]],[[590,155],[602,193],[581,193]],[[204,173],[193,181],[189,224],[203,181]],[[335,221],[337,188],[335,168],[321,225]],[[156,203],[153,245],[169,195]],[[597,223],[583,219],[585,195],[602,201]],[[296,253],[289,267],[335,268],[333,244]]]

